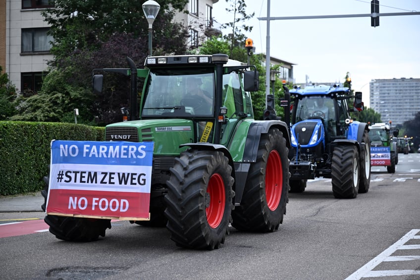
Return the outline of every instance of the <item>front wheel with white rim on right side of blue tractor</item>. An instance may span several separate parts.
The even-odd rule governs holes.
[[[334,147],[331,183],[335,198],[356,198],[359,191],[359,171],[359,152],[356,146]]]

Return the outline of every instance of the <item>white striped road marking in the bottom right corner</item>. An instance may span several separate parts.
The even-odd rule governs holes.
[[[396,250],[405,250],[405,249],[417,249],[413,247],[420,247],[420,245],[404,245],[410,239],[418,239],[418,236],[415,236],[420,229],[412,229],[406,235],[404,235],[400,240],[392,244],[390,247],[385,249],[382,253],[373,258],[366,265],[358,269],[352,275],[347,277],[345,280],[360,280],[365,277],[384,277],[384,276],[401,276],[401,275],[420,275],[420,271],[416,270],[382,270],[382,271],[372,271],[377,265],[384,262],[388,259],[392,253]],[[413,247],[412,247],[413,246]]]

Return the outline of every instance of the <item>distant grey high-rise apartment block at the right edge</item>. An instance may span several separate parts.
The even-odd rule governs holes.
[[[374,79],[369,84],[370,108],[381,114],[382,122],[403,124],[420,111],[420,79]]]

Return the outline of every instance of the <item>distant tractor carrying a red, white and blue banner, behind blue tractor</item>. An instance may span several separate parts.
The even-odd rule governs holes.
[[[371,166],[383,166],[386,167],[388,173],[395,172],[398,151],[397,143],[392,138],[398,137],[398,133],[398,129],[391,128],[391,123],[380,122],[369,126]]]

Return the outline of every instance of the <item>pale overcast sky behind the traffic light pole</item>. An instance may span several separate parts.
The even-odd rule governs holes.
[[[233,2],[233,0],[229,0]],[[256,53],[266,53],[267,0],[245,0],[246,24],[253,30]],[[420,0],[379,0],[380,13],[420,12]],[[217,22],[232,21],[226,0],[213,4]],[[370,0],[270,0],[271,17],[368,14]],[[270,21],[270,55],[295,63],[295,82],[344,82],[347,72],[352,88],[363,92],[369,106],[372,79],[420,78],[420,15],[380,17],[378,27],[370,17]],[[223,30],[223,33],[229,33]]]

